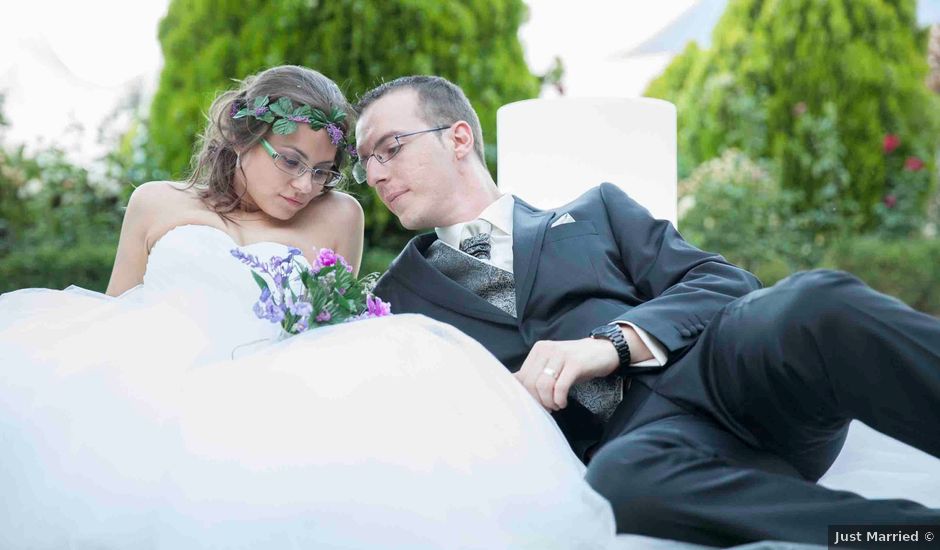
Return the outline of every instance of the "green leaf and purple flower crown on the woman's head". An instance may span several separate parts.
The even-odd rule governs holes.
[[[326,129],[330,136],[330,143],[344,148],[351,156],[356,156],[355,147],[348,143],[340,123],[346,118],[346,112],[333,107],[327,115],[316,107],[294,103],[286,97],[279,98],[274,103],[268,96],[256,97],[251,101],[236,100],[232,103],[231,115],[233,119],[252,117],[271,124],[275,134],[287,135],[297,131],[298,124],[309,124],[314,130]]]

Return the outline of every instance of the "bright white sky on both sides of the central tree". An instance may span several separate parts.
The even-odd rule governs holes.
[[[696,2],[582,0],[576,9],[567,0],[527,3],[529,20],[519,36],[534,72],[544,72],[558,56],[566,95],[634,97],[671,56],[626,52]],[[162,64],[157,24],[167,5],[168,0],[28,0],[5,7],[0,91],[10,127],[4,141],[56,143],[82,163],[101,156],[97,128],[131,90],[149,94],[156,86]]]

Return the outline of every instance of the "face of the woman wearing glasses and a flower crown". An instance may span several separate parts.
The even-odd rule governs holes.
[[[295,176],[284,169],[306,165],[330,170],[336,146],[326,130],[313,130],[306,124],[292,134],[268,134],[265,139],[278,155],[277,162],[261,143],[245,151],[239,156],[241,169],[235,171],[236,189],[268,216],[289,220],[320,195],[323,187],[313,182],[312,170]]]

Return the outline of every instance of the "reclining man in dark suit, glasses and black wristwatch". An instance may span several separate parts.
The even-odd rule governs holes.
[[[940,524],[815,484],[852,418],[940,456],[940,321],[845,273],[759,289],[609,183],[544,211],[500,194],[476,113],[442,78],[388,82],[358,109],[357,180],[405,227],[434,228],[376,293],[515,373],[618,531],[825,544],[828,525]]]

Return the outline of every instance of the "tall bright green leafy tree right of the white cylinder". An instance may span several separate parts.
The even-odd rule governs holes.
[[[772,159],[801,210],[835,190],[855,212],[842,225],[884,223],[877,205],[891,194],[922,212],[938,99],[915,11],[914,0],[731,0],[711,48],[688,47],[647,90],[677,105],[684,173],[736,147]],[[883,153],[889,134],[926,164],[910,189],[898,191]]]

